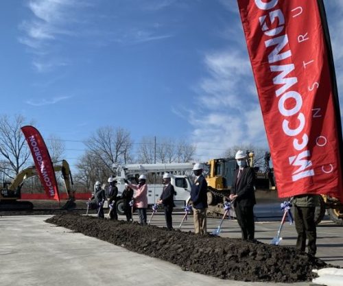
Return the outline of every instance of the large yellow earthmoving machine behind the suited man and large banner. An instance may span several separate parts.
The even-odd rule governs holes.
[[[254,167],[254,152],[248,153],[248,163],[250,167]],[[264,171],[260,171],[259,167],[255,169],[255,196],[257,202],[276,202],[281,199],[277,196],[276,184],[274,181],[273,169],[270,167],[270,153],[266,152]],[[209,191],[207,192],[207,203],[209,215],[217,215],[224,213],[224,200],[230,194],[230,187],[233,183],[233,173],[236,167],[234,158],[218,158],[211,159],[208,163],[209,174],[206,176]],[[324,217],[327,211],[330,219],[335,224],[343,225],[343,204],[327,195],[321,195],[320,206],[316,208],[315,220],[318,224]]]

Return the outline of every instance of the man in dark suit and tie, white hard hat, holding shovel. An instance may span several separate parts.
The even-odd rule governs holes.
[[[233,175],[233,185],[230,191],[230,200],[234,200],[233,206],[237,216],[237,222],[241,227],[241,239],[255,240],[254,205],[256,204],[254,170],[247,164],[246,152],[239,150],[235,159],[238,168]]]

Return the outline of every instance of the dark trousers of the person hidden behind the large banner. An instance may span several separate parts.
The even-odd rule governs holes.
[[[296,223],[296,233],[298,233],[298,239],[296,239],[296,248],[302,252],[305,252],[306,239],[308,239],[307,248],[309,254],[315,255],[317,252],[316,239],[316,223],[314,222],[315,207],[301,207],[294,206],[294,222]]]

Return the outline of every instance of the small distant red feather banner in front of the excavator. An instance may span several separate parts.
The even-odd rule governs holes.
[[[29,149],[34,157],[34,165],[36,166],[37,174],[40,182],[43,184],[45,193],[49,198],[60,201],[54,166],[52,165],[50,154],[43,137],[33,126],[24,126],[21,128],[21,131],[23,131]]]

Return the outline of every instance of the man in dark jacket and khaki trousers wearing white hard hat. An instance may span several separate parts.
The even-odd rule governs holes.
[[[191,201],[193,202],[193,219],[196,234],[206,234],[207,182],[202,176],[202,164],[193,166],[196,180],[191,187]]]

